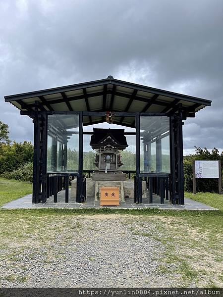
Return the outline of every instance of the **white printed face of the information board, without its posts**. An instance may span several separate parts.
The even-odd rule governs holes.
[[[219,161],[195,161],[196,178],[219,178]]]

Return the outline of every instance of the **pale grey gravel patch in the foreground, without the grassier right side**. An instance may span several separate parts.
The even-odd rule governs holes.
[[[65,223],[57,221],[56,225],[2,250],[1,287],[151,287],[167,283],[158,271],[165,247],[153,239],[159,231],[150,221],[142,224],[132,216],[95,215],[67,217]]]

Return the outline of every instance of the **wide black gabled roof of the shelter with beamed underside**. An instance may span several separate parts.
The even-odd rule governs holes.
[[[194,116],[196,111],[210,106],[212,102],[117,80],[112,76],[102,80],[5,96],[4,99],[23,111],[33,111],[35,101],[39,102],[40,110],[50,111],[174,113],[180,104],[184,117]],[[104,121],[104,117],[84,117],[84,125]],[[131,122],[127,117],[116,119],[116,123],[123,126]]]

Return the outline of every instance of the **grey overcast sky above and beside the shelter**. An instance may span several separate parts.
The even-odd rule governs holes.
[[[223,0],[0,0],[0,120],[33,139],[3,96],[116,79],[204,99],[184,154],[223,149]]]

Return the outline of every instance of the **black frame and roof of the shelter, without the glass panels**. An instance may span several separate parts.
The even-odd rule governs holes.
[[[77,178],[77,202],[86,199],[86,179],[83,172],[83,125],[105,122],[107,111],[115,113],[114,124],[136,129],[135,203],[142,203],[141,180],[147,181],[150,203],[153,193],[159,194],[161,203],[170,199],[173,204],[184,204],[183,188],[183,120],[195,117],[196,111],[211,105],[211,100],[186,96],[129,82],[107,79],[48,90],[29,92],[4,97],[20,109],[21,115],[28,115],[34,122],[34,168],[33,203],[46,202],[47,198],[65,190],[65,202],[69,199],[69,176]],[[48,115],[76,114],[79,117],[78,171],[47,172]],[[140,117],[166,116],[169,118],[170,173],[140,171]],[[132,117],[135,121],[132,121]],[[129,119],[131,119],[129,121]],[[161,139],[156,141],[161,153]],[[148,164],[152,140],[144,138],[144,163]],[[65,144],[65,142],[64,142]],[[65,153],[66,155],[66,153]],[[159,162],[159,161],[158,161]],[[159,167],[159,164],[158,164]],[[129,174],[131,171],[125,171]],[[90,176],[90,171],[88,171]]]

